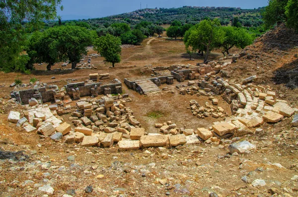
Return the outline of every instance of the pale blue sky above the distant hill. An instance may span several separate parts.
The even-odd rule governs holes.
[[[62,0],[64,9],[58,11],[62,20],[100,18],[142,8],[171,8],[191,6],[225,6],[243,9],[268,5],[268,0]]]

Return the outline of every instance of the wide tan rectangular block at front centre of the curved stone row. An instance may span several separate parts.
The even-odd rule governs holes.
[[[140,138],[143,147],[150,146],[167,146],[168,137],[166,135],[143,135]]]

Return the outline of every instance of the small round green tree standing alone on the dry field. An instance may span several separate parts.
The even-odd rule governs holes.
[[[115,67],[115,63],[120,63],[121,61],[121,40],[118,37],[110,34],[101,36],[96,40],[94,49],[100,53],[107,62],[112,63],[113,67]]]

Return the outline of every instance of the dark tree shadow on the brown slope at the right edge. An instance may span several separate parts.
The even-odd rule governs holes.
[[[285,84],[289,88],[298,87],[298,59],[285,64],[273,72],[273,81],[276,84]]]

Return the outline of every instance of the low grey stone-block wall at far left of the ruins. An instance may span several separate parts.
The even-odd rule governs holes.
[[[14,91],[10,93],[11,98],[16,98],[16,100],[25,105],[29,103],[30,98],[36,98],[37,100],[42,100],[43,103],[55,101],[56,91],[46,90],[45,87]]]

